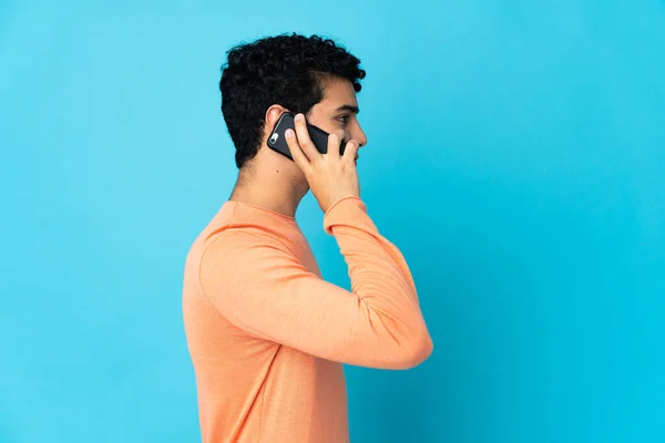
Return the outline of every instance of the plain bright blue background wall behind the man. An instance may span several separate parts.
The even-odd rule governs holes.
[[[364,61],[364,198],[434,340],[348,368],[355,442],[665,441],[665,3],[0,1],[0,442],[194,442],[188,246],[225,51]],[[311,197],[298,217],[348,285]]]

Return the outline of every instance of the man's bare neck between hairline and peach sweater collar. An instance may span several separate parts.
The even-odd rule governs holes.
[[[252,165],[241,169],[229,199],[295,217],[307,190],[298,185],[293,172]]]

